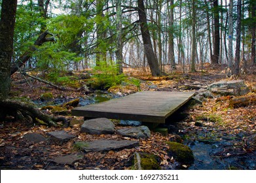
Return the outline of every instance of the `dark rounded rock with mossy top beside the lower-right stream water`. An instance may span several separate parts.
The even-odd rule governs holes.
[[[194,162],[194,156],[189,146],[185,146],[184,144],[180,144],[178,142],[166,142],[166,144],[169,146],[168,154],[170,156],[174,156],[177,161],[187,165]]]

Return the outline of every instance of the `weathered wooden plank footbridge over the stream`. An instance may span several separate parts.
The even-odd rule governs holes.
[[[165,123],[166,118],[187,103],[194,92],[137,92],[102,103],[77,107],[73,116]]]

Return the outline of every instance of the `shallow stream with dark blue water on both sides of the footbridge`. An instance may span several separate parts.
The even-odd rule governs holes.
[[[80,97],[80,106],[90,105],[92,103],[100,103],[109,99],[122,97],[121,95],[114,95],[107,92],[96,92],[86,97]],[[46,103],[45,101],[33,101],[39,107],[44,105],[61,105],[72,99],[59,98]],[[175,123],[176,124],[176,123]],[[182,123],[177,122],[177,128],[183,129]],[[215,138],[202,140],[202,136],[211,133],[211,129],[202,130],[203,133],[192,129],[179,133],[185,139],[183,144],[189,146],[194,154],[194,163],[188,167],[189,170],[223,170],[223,169],[256,169],[256,156],[255,152],[244,152],[241,148],[236,148],[236,143],[242,141],[246,134],[238,134],[236,136],[231,134],[224,134],[223,131],[217,131]],[[191,138],[186,138],[191,137]],[[179,167],[170,167],[170,169],[179,169]]]

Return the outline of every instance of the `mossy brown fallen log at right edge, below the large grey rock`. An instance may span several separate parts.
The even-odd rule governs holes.
[[[256,95],[234,97],[229,101],[230,107],[242,107],[252,104],[256,104]]]

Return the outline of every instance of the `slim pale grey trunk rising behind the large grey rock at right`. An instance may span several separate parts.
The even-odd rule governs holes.
[[[233,0],[229,1],[229,60],[227,76],[231,76],[233,71]]]

